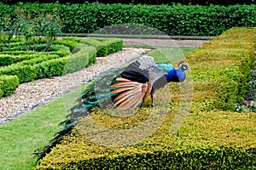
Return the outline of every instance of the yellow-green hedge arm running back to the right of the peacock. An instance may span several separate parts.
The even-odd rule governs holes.
[[[195,102],[199,96],[197,102],[211,101],[212,109],[224,111],[234,111],[235,105],[242,103],[252,79],[255,35],[255,28],[233,28],[186,57],[192,71]]]

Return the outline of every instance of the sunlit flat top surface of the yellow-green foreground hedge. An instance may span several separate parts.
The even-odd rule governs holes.
[[[147,159],[149,158],[147,154],[157,152],[171,152],[174,155],[179,155],[182,152],[185,154],[193,150],[205,150],[207,152],[209,148],[213,150],[231,148],[241,152],[256,148],[254,142],[256,131],[253,128],[256,123],[255,113],[209,112],[208,114],[189,115],[183,123],[183,127],[177,133],[172,134],[170,128],[173,125],[174,116],[175,114],[171,112],[154,135],[143,142],[128,147],[107,147],[94,144],[88,141],[83,133],[73,133],[41,161],[38,169],[45,167],[67,168],[68,164],[72,165],[75,162],[81,165],[82,162],[97,160],[112,160],[114,166],[114,161],[118,161],[119,157],[122,156],[139,155],[145,156]],[[119,120],[119,127],[123,125],[125,128],[131,128],[133,122],[137,123],[135,117],[133,116],[133,120],[129,119],[128,121]],[[102,113],[97,114],[94,118],[106,127],[115,126],[117,121],[115,118],[102,115]],[[127,126],[129,121],[131,124]],[[79,126],[84,126],[83,122]],[[113,138],[115,137],[113,136]],[[158,158],[161,159],[160,156]],[[105,161],[102,164],[106,163]]]

